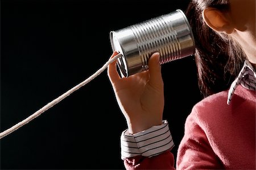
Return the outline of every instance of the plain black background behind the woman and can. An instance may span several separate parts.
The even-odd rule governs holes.
[[[84,81],[112,55],[109,32],[188,0],[1,1],[1,132]],[[201,98],[193,56],[162,66],[175,147]],[[1,169],[124,169],[126,122],[106,71],[1,139]]]

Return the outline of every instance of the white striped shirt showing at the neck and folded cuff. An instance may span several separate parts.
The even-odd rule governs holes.
[[[238,84],[241,84],[246,89],[256,89],[255,68],[247,60],[240,74],[230,86],[228,104],[232,100],[234,90],[236,90]],[[138,155],[152,157],[168,150],[171,151],[173,147],[174,142],[167,121],[163,121],[162,125],[153,126],[133,135],[129,134],[128,130],[125,130],[121,135],[121,158],[123,160],[127,157]]]

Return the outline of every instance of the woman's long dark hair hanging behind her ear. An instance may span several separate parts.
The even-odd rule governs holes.
[[[213,31],[203,20],[203,10],[215,7],[229,10],[228,0],[192,0],[186,15],[195,36],[197,76],[204,97],[229,88],[240,72],[245,53],[238,43],[226,34]]]

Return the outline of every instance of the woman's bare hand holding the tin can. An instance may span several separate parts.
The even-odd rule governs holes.
[[[110,58],[117,54],[114,52]],[[116,64],[114,61],[108,66],[108,76],[130,134],[161,125],[164,93],[159,53],[150,57],[147,71],[129,77],[119,77]]]

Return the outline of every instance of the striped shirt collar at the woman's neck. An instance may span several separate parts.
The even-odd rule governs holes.
[[[237,86],[241,84],[244,88],[249,90],[256,89],[256,71],[253,65],[248,60],[245,60],[243,67],[238,74],[237,78],[232,82],[229,93],[228,93],[228,105],[230,104],[234,91],[236,90]]]

